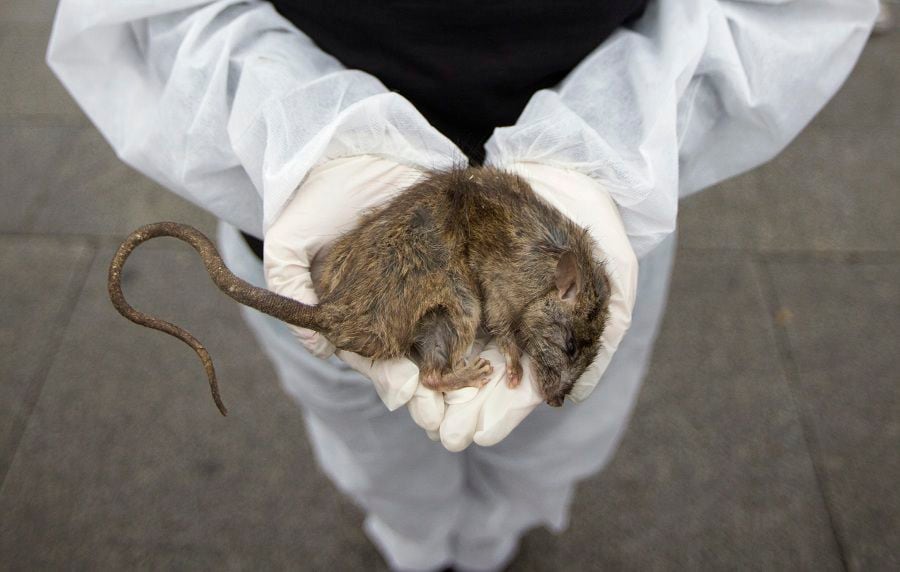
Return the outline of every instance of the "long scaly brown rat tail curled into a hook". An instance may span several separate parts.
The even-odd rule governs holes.
[[[206,351],[203,344],[183,328],[135,310],[125,301],[125,295],[122,293],[122,268],[125,265],[125,260],[128,259],[128,256],[138,245],[151,238],[160,236],[171,236],[190,244],[200,254],[200,258],[203,259],[203,264],[206,266],[206,271],[216,286],[241,304],[255,308],[288,324],[320,330],[321,325],[318,320],[317,308],[279,296],[265,288],[257,288],[241,280],[225,266],[212,241],[192,226],[174,222],[148,224],[132,232],[122,242],[112,259],[112,263],[109,265],[107,286],[113,306],[116,307],[120,314],[132,322],[175,336],[191,346],[197,352],[200,361],[203,362],[203,368],[206,370],[207,378],[209,378],[209,388],[212,391],[216,407],[219,408],[222,415],[227,415],[228,410],[219,396],[219,384],[216,381],[216,370],[213,368],[212,358],[209,357],[209,352]]]

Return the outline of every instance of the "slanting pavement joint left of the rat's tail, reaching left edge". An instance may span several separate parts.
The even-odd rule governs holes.
[[[35,407],[37,407],[38,401],[40,401],[44,384],[50,375],[50,370],[52,369],[53,364],[56,363],[56,358],[60,347],[62,346],[63,339],[65,339],[65,334],[69,329],[72,316],[75,315],[76,306],[78,305],[79,300],[81,300],[84,289],[87,286],[91,268],[97,258],[97,249],[90,245],[87,246],[88,252],[80,256],[84,259],[83,264],[80,269],[76,269],[75,272],[72,273],[65,299],[57,312],[57,323],[59,324],[59,327],[54,330],[55,333],[51,335],[49,341],[43,348],[43,353],[47,356],[47,359],[31,377],[25,392],[25,397],[22,399],[24,405],[23,414],[19,418],[13,420],[12,429],[10,431],[10,444],[12,446],[10,447],[8,456],[5,459],[0,458],[0,496],[3,495],[6,477],[9,475],[9,470],[18,453],[19,444],[22,441],[22,437],[25,435],[25,430],[28,427],[31,414],[34,412]]]

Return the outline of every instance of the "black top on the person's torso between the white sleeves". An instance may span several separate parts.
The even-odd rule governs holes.
[[[559,83],[647,0],[274,0],[344,66],[407,99],[480,162],[494,127]]]

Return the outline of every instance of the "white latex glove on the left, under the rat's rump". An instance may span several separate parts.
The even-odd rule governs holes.
[[[310,268],[316,255],[350,230],[363,211],[384,203],[414,184],[422,171],[372,155],[334,159],[310,171],[266,232],[263,265],[273,292],[317,304]],[[290,326],[297,339],[315,356],[335,353],[324,336]],[[440,393],[420,386],[419,368],[406,358],[373,361],[338,351],[337,357],[371,379],[390,410],[408,405],[420,427],[434,430],[444,415]]]

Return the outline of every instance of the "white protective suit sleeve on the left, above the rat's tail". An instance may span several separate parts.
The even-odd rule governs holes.
[[[465,162],[266,2],[62,0],[47,60],[122,160],[260,237],[328,159]]]

